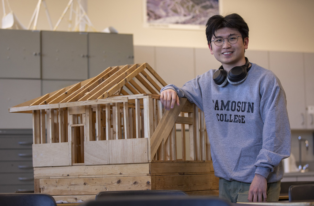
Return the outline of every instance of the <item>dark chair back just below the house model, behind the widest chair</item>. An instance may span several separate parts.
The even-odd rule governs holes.
[[[149,195],[149,196],[187,196],[187,193],[182,190],[123,190],[123,191],[102,191],[96,195],[97,199],[108,198],[112,196],[134,196],[134,195]]]

